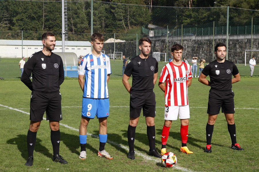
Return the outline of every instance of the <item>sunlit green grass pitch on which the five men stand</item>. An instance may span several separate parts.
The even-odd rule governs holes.
[[[159,71],[160,72],[160,71]],[[131,82],[131,79],[130,79]],[[163,128],[164,93],[155,85],[156,94],[156,147],[161,148]],[[214,126],[212,153],[204,153],[206,145],[205,126],[207,123],[207,101],[210,87],[193,78],[188,89],[190,104],[190,124],[188,130],[188,148],[193,154],[180,153],[180,120],[173,121],[167,141],[167,151],[176,154],[178,163],[174,171],[258,171],[258,85],[259,78],[241,77],[233,84],[235,93],[237,142],[244,151],[232,150],[227,123],[222,113]],[[99,123],[95,118],[88,125],[86,153],[87,158],[79,159],[79,129],[81,119],[82,91],[76,79],[65,80],[61,85],[62,114],[60,122],[73,129],[60,126],[60,155],[68,164],[54,163],[48,121],[43,120],[37,133],[32,167],[24,165],[27,159],[26,135],[29,126],[29,104],[31,91],[18,79],[0,80],[0,104],[22,110],[11,110],[0,105],[0,171],[172,171],[165,168],[160,159],[146,156],[148,138],[144,117],[140,116],[136,128],[136,159],[127,158],[127,126],[129,123],[129,93],[124,88],[121,77],[110,78],[108,83],[110,96],[110,116],[108,117],[108,142],[105,150],[113,160],[97,156],[99,148]],[[251,109],[247,109],[251,108]],[[252,109],[254,108],[254,109]],[[44,115],[45,117],[45,115]],[[121,145],[121,146],[120,146]],[[141,155],[146,157],[143,157]],[[181,167],[181,168],[180,168]]]

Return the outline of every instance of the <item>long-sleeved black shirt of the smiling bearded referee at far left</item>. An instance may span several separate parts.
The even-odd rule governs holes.
[[[29,78],[33,73],[33,80]],[[51,53],[46,56],[36,52],[24,64],[21,81],[31,90],[50,93],[60,89],[64,81],[64,68],[61,57]]]

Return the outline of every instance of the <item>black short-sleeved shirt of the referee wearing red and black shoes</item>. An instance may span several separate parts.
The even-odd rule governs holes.
[[[228,60],[219,63],[214,60],[207,64],[202,73],[210,76],[210,86],[218,91],[228,91],[232,88],[232,75],[239,73],[237,66]]]

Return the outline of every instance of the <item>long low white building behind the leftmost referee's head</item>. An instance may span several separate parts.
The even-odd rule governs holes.
[[[41,51],[43,44],[38,40],[0,40],[1,57],[29,57],[31,54]],[[56,41],[55,49],[52,52],[62,52],[62,41]],[[64,52],[74,52],[77,57],[85,56],[91,52],[89,41],[66,41]]]

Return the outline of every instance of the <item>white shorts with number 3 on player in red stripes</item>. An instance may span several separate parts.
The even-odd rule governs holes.
[[[179,119],[189,119],[190,118],[190,109],[189,105],[184,106],[166,106],[165,107],[165,120],[177,120]]]

